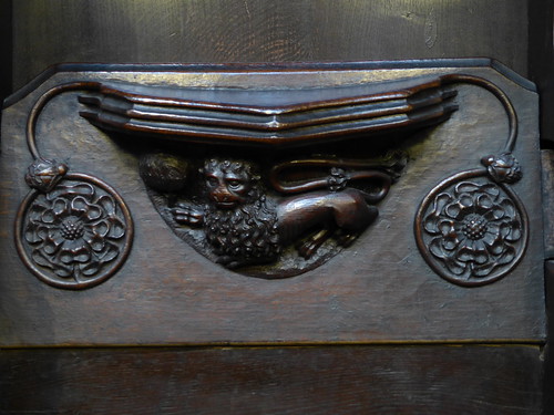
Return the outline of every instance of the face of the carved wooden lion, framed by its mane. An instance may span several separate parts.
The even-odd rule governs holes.
[[[234,209],[249,201],[257,177],[242,162],[211,159],[203,168],[208,197],[219,209]]]

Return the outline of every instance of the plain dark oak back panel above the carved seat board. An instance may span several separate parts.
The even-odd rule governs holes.
[[[59,62],[490,56],[527,73],[521,0],[27,0],[13,17],[16,89]]]

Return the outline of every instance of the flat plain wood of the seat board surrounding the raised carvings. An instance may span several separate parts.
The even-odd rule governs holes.
[[[280,72],[264,71],[264,66],[229,66],[227,72],[219,66],[209,72],[204,66],[202,73],[196,72],[197,66],[183,66],[182,72],[175,68],[166,72],[125,72],[120,68],[110,76],[111,82],[147,79],[151,84],[195,87],[244,87],[246,83],[253,89],[287,82],[287,87],[293,89],[390,81],[406,73],[422,76],[437,73],[437,63],[420,61],[419,69],[410,70],[404,62],[397,71],[380,70],[370,63],[352,68],[296,65],[289,72],[285,66]],[[44,157],[66,160],[70,173],[103,178],[122,194],[136,226],[133,250],[110,280],[86,291],[66,292],[39,281],[17,256],[12,239],[2,240],[0,261],[11,276],[0,280],[0,341],[9,346],[543,342],[542,209],[534,185],[540,181],[540,172],[531,167],[538,165],[536,94],[527,89],[529,83],[520,83],[516,76],[507,79],[507,72],[504,75],[486,66],[488,61],[478,61],[474,66],[461,66],[463,63],[471,62],[444,62],[439,71],[490,77],[512,98],[520,117],[521,139],[514,155],[524,175],[513,190],[527,209],[530,239],[521,263],[505,278],[474,289],[453,286],[425,263],[413,236],[418,205],[430,189],[454,172],[478,168],[481,157],[504,146],[509,131],[505,112],[490,92],[475,85],[456,86],[459,110],[449,121],[404,137],[403,148],[411,160],[380,203],[379,219],[368,231],[319,268],[279,280],[227,270],[214,263],[218,258],[213,262],[213,257],[206,259],[177,238],[157,214],[140,178],[137,138],[110,136],[92,126],[79,115],[84,108],[78,101],[81,93],[69,91],[55,96],[39,116],[38,147]],[[343,72],[332,70],[341,68]],[[57,73],[6,110],[1,184],[4,209],[0,220],[7,235],[29,191],[23,176],[32,162],[24,143],[30,107],[52,85],[105,75],[94,69],[101,66],[90,72]],[[314,76],[315,69],[318,76]],[[365,139],[369,144],[379,142],[373,136]],[[383,142],[388,144],[388,138]],[[361,148],[357,147],[358,153]],[[297,152],[286,156],[299,157]]]

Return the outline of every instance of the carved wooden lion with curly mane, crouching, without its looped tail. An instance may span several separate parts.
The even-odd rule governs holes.
[[[177,204],[171,212],[178,225],[202,227],[217,262],[229,269],[273,262],[300,238],[296,248],[304,258],[329,238],[349,246],[378,215],[368,195],[348,187],[269,199],[243,160],[207,159],[199,173],[204,206]]]

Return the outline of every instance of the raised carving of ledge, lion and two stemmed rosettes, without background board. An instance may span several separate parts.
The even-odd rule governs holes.
[[[131,249],[132,218],[116,190],[39,153],[37,120],[63,92],[84,91],[80,115],[95,126],[142,137],[140,175],[179,238],[227,269],[273,279],[317,268],[378,219],[377,204],[408,163],[404,141],[445,122],[463,83],[500,101],[507,142],[483,157],[485,169],[456,173],[425,197],[416,239],[447,280],[492,282],[517,263],[527,240],[525,209],[506,187],[522,176],[512,155],[517,116],[501,89],[466,74],[297,89],[57,85],[29,115],[35,162],[25,179],[34,193],[18,215],[18,251],[43,281],[88,288],[113,274]],[[160,149],[165,142],[177,145]],[[352,143],[361,144],[356,154]],[[302,157],[288,156],[290,148]]]

